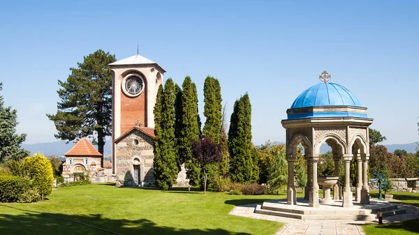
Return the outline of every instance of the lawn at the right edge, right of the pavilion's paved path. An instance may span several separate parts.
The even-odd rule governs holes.
[[[388,192],[394,199],[402,200],[402,204],[411,204],[419,206],[419,193],[418,192]],[[371,192],[375,198],[378,197],[378,192]],[[381,235],[381,234],[395,234],[395,235],[413,235],[419,233],[419,219],[407,220],[404,222],[397,222],[385,225],[362,225],[362,228],[367,235]]]

